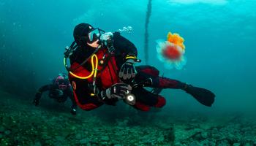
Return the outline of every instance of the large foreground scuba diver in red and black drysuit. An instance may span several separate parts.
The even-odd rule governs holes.
[[[215,95],[211,91],[160,77],[159,70],[153,66],[135,66],[140,62],[137,48],[121,36],[121,31],[105,32],[80,23],[75,26],[73,36],[75,41],[66,48],[64,64],[75,101],[83,110],[93,110],[102,104],[115,105],[119,99],[137,110],[160,108],[165,106],[165,98],[159,95],[164,88],[186,91],[208,107],[214,103]]]

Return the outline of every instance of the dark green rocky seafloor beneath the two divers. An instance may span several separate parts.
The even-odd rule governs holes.
[[[0,145],[256,145],[256,120],[243,115],[72,116],[68,106],[34,107],[8,93],[0,101]]]

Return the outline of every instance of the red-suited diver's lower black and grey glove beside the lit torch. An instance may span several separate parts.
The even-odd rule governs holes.
[[[105,91],[99,92],[97,95],[101,97],[102,99],[108,98],[108,99],[124,99],[124,95],[131,91],[132,87],[124,84],[124,83],[116,83],[115,85],[112,85],[110,88],[106,89]]]

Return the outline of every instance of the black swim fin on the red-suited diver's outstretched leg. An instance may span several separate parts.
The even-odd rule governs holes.
[[[187,85],[184,91],[192,95],[195,99],[197,99],[197,101],[205,106],[211,107],[211,105],[214,103],[215,94],[207,89]]]

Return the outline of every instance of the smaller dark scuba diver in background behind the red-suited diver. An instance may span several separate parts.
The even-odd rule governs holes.
[[[41,99],[42,93],[45,91],[49,91],[48,96],[51,99],[55,99],[59,103],[64,103],[67,101],[67,97],[69,97],[69,99],[72,101],[70,112],[72,115],[76,115],[77,104],[72,94],[72,88],[69,84],[67,74],[59,74],[58,77],[53,79],[52,84],[43,85],[41,88],[39,88],[33,101],[35,106],[39,105],[39,100]]]

